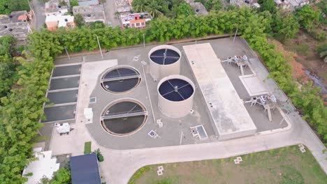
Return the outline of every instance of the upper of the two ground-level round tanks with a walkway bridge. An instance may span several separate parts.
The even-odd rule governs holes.
[[[101,86],[110,93],[126,93],[140,84],[140,72],[131,66],[109,68],[101,77]]]

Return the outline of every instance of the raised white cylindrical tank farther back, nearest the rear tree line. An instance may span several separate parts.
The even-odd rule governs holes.
[[[171,45],[152,48],[149,52],[150,75],[156,80],[168,75],[179,75],[181,56],[180,50]]]

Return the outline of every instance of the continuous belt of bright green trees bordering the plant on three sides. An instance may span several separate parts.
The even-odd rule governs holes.
[[[134,0],[133,6],[136,6],[138,1],[140,0]],[[183,8],[182,14],[175,15],[172,2],[181,1],[158,2],[163,3],[160,5],[162,9],[153,8],[152,1],[149,1],[150,5],[147,5],[152,9],[145,9],[157,17],[149,22],[147,29],[122,31],[119,28],[111,28],[103,24],[92,24],[70,31],[59,29],[56,32],[50,32],[43,29],[29,35],[28,52],[25,52],[26,55],[19,59],[21,66],[17,71],[17,82],[13,80],[15,88],[11,87],[9,92],[6,90],[7,95],[2,96],[0,103],[1,183],[24,183],[26,181],[21,174],[24,166],[30,161],[33,138],[42,126],[38,121],[45,118],[43,103],[48,102],[48,99],[45,98],[45,91],[48,89],[51,70],[54,68],[54,59],[64,52],[64,46],[68,52],[98,49],[96,36],[99,36],[101,47],[112,49],[138,45],[143,42],[143,34],[146,43],[166,43],[170,40],[200,38],[212,34],[230,33],[233,35],[238,29],[242,38],[245,38],[252,49],[260,54],[270,70],[270,77],[275,79],[279,87],[291,98],[293,104],[304,114],[303,118],[317,130],[321,139],[326,142],[327,108],[324,107],[323,101],[319,97],[319,89],[313,87],[312,83],[299,87],[291,77],[291,68],[287,59],[267,39],[267,37],[273,38],[273,36],[280,36],[282,40],[292,38],[294,32],[298,30],[298,26],[305,26],[303,22],[312,19],[311,15],[301,14],[303,15],[302,23],[297,23],[294,15],[284,15],[278,10],[270,12],[265,9],[256,11],[233,7],[229,10],[212,11],[209,15],[198,17],[193,15],[193,10],[188,11],[188,8]],[[171,2],[170,6],[165,2]],[[180,7],[183,6],[177,8]],[[310,6],[310,8],[312,7]],[[160,10],[161,13],[156,13],[156,10]],[[281,17],[289,17],[275,20],[277,19],[275,15],[278,17],[277,13]],[[314,21],[314,25],[311,27],[321,24],[320,19],[314,19]],[[13,82],[8,86],[13,86]]]

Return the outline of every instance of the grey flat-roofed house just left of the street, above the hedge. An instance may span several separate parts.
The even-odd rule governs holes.
[[[73,14],[80,14],[86,23],[101,21],[106,24],[106,15],[102,5],[74,6]]]

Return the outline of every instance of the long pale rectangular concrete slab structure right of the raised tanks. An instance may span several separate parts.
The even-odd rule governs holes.
[[[218,139],[254,135],[256,125],[210,43],[183,47]]]

